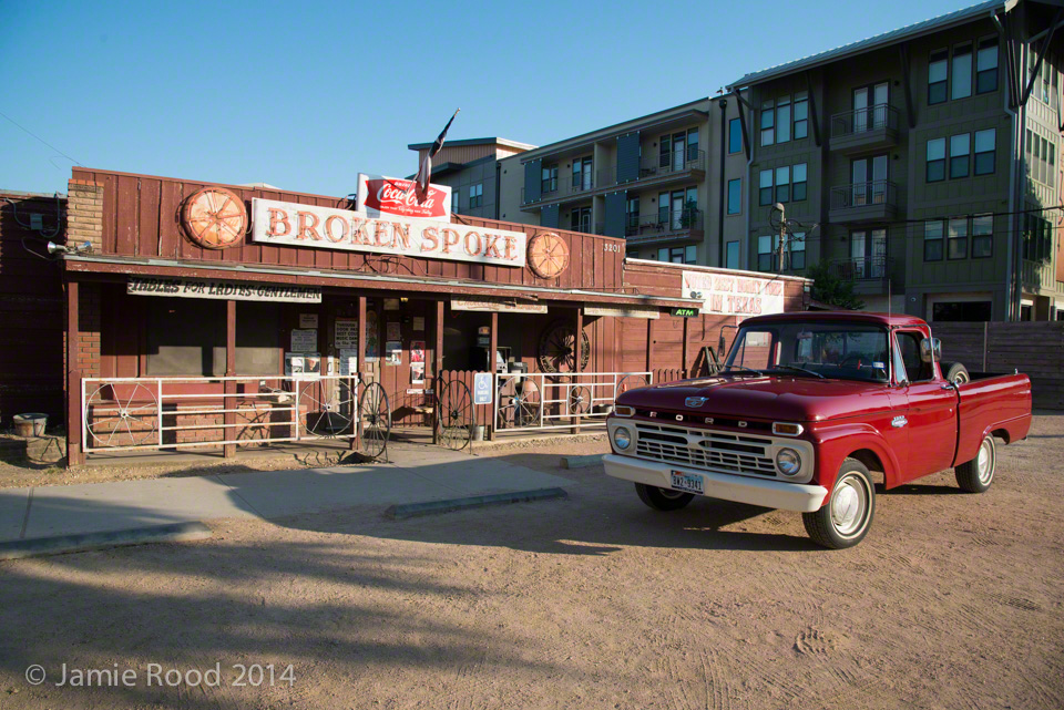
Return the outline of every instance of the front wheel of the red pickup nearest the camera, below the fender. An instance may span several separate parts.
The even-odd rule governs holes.
[[[876,515],[876,486],[868,467],[847,459],[831,488],[827,505],[802,513],[801,522],[812,542],[830,549],[852,547],[864,538]]]

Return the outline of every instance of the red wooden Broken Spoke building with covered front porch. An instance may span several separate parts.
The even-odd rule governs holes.
[[[287,438],[275,430],[299,438],[248,401],[284,390],[286,373],[318,370],[378,382],[397,424],[427,425],[440,383],[471,385],[492,352],[504,373],[601,374],[600,388],[615,389],[617,373],[697,372],[704,348],[728,341],[739,317],[705,312],[709,295],[685,296],[685,279],[713,288],[719,277],[755,311],[766,285],[776,310],[807,298],[805,279],[626,261],[623,239],[457,215],[370,219],[354,208],[263,186],[73,168],[66,243],[92,248],[62,258],[71,464],[103,443],[90,404],[112,402],[109,415],[124,424],[111,445],[227,442],[232,454]],[[297,430],[308,409],[297,398]],[[137,411],[157,422],[146,441]],[[501,420],[491,405],[477,411],[490,435]]]

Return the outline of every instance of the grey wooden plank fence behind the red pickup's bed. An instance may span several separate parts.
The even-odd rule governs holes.
[[[931,323],[942,359],[976,372],[1019,370],[1034,407],[1064,409],[1064,321]]]

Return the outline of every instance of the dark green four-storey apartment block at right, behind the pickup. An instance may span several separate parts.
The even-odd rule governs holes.
[[[1064,319],[1062,20],[983,2],[736,81],[743,268],[823,261],[932,321]]]

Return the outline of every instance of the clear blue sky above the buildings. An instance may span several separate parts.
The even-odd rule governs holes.
[[[0,0],[0,189],[78,162],[342,196],[454,109],[449,138],[544,145],[968,4]]]

